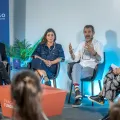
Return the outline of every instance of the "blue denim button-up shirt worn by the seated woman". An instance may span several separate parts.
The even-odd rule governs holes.
[[[62,58],[62,61],[65,60],[65,55],[63,48],[60,44],[54,43],[53,46],[48,48],[46,44],[39,44],[34,51],[33,55],[38,55],[45,60],[53,61],[57,58]],[[41,61],[42,63],[42,61]],[[45,71],[50,70],[53,73],[56,73],[56,64],[43,68]]]

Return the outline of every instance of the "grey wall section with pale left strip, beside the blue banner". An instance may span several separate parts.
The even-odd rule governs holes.
[[[10,44],[25,39],[26,0],[9,0]]]

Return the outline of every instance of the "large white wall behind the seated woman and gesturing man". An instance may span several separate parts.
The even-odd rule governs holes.
[[[68,58],[68,44],[71,42],[74,48],[77,47],[84,38],[83,27],[92,24],[95,38],[104,46],[107,44],[105,49],[111,49],[112,44],[120,47],[119,5],[119,0],[26,0],[25,37],[34,44],[47,28],[52,27]],[[57,80],[62,89],[68,89],[70,83],[66,69],[66,63],[62,63]]]

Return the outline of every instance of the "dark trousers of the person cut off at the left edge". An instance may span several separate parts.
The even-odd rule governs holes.
[[[10,77],[7,73],[7,70],[2,62],[0,62],[0,85],[4,84],[10,84]]]

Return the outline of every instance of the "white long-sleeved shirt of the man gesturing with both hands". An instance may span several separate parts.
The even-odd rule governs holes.
[[[94,50],[97,52],[98,55],[101,57],[101,61],[97,61],[96,57],[91,55],[84,47],[85,47],[85,41],[81,42],[79,46],[77,47],[77,50],[75,51],[75,62],[80,60],[80,65],[83,67],[91,67],[95,68],[95,66],[98,63],[102,63],[104,61],[104,55],[103,55],[103,46],[102,44],[93,39],[92,45],[94,47]]]

